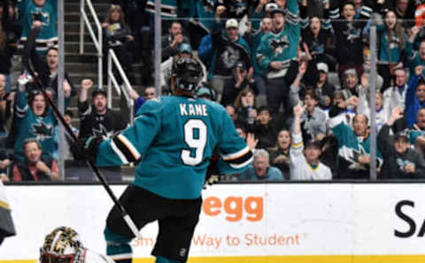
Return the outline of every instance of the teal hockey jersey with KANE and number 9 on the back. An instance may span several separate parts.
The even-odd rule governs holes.
[[[139,161],[136,186],[168,199],[197,199],[216,147],[221,154],[220,174],[240,173],[253,159],[220,104],[165,96],[146,101],[134,125],[102,142],[96,164]]]

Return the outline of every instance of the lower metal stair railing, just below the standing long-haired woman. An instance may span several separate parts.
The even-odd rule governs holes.
[[[117,67],[118,72],[120,73],[120,77],[123,80],[123,85],[120,86],[118,84],[117,79],[115,79],[115,76],[113,75],[113,65]],[[115,87],[115,91],[117,94],[121,95],[124,94],[124,97],[126,97],[127,105],[128,105],[128,111],[130,115],[130,124],[134,123],[135,120],[135,108],[134,108],[134,101],[128,94],[129,91],[133,89],[133,87],[130,84],[130,81],[127,78],[126,72],[121,67],[120,60],[118,60],[118,57],[115,55],[115,52],[113,49],[108,50],[108,105],[109,107],[112,106],[112,83]]]

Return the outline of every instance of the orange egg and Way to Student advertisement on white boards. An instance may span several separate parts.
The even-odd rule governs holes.
[[[301,233],[266,233],[265,192],[259,195],[226,195],[205,192],[198,229],[192,238],[191,249],[237,250],[241,247],[290,247],[301,244]],[[250,224],[252,227],[248,227]],[[206,227],[208,225],[208,227]],[[211,227],[209,225],[212,225]],[[205,226],[205,227],[204,227]],[[255,231],[256,230],[256,231]],[[152,248],[155,237],[133,240],[132,246]]]

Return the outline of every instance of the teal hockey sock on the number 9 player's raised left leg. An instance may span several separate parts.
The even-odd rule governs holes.
[[[117,263],[131,263],[131,259],[133,259],[133,250],[129,244],[131,237],[115,234],[106,227],[104,229],[104,239],[106,240],[106,254],[108,256]]]

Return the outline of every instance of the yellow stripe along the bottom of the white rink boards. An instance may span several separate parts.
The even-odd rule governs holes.
[[[32,260],[0,260],[0,263],[35,263]],[[133,263],[154,263],[154,258],[133,259]],[[194,257],[187,263],[424,263],[425,255],[338,255],[268,257]]]

